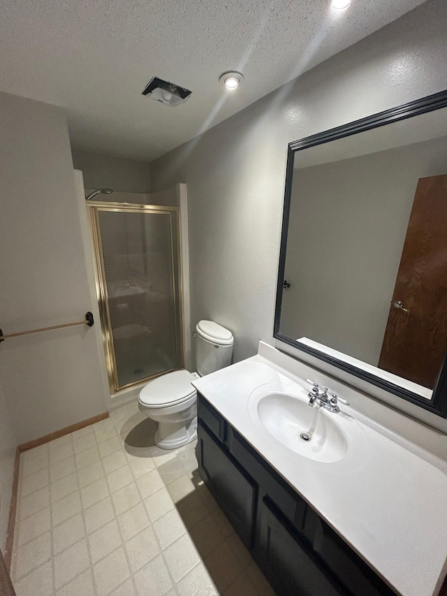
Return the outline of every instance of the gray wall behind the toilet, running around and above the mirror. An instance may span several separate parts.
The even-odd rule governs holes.
[[[444,89],[446,19],[430,0],[152,163],[153,190],[188,184],[191,323],[236,361],[272,342],[287,144]]]

